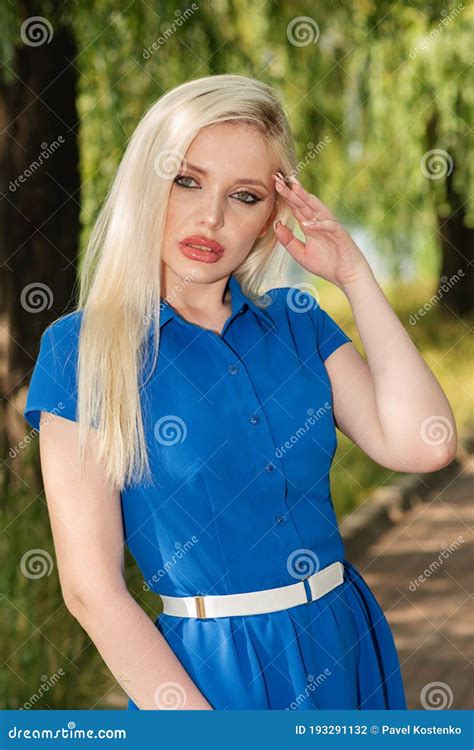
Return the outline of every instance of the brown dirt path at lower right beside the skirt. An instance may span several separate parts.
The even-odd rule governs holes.
[[[473,498],[471,454],[454,479],[350,558],[392,627],[410,709],[474,707]]]

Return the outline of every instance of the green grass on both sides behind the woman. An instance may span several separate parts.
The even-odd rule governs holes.
[[[473,423],[473,404],[469,398],[473,343],[472,337],[467,335],[466,322],[455,316],[445,321],[437,306],[421,323],[409,326],[410,314],[429,299],[432,288],[403,285],[386,290],[386,294],[445,390],[459,433],[462,433]],[[320,300],[362,351],[345,297],[334,286],[326,285],[321,286]],[[31,474],[39,476],[37,448],[35,441],[25,459],[22,457],[23,489],[15,496],[7,495],[1,510],[4,529],[1,537],[4,594],[1,706],[7,709],[23,706],[32,696],[40,694],[45,677],[61,669],[64,676],[53,688],[43,692],[34,703],[35,708],[124,707],[113,675],[62,601],[44,493],[40,487],[38,492],[27,489],[28,484],[34,484],[30,481]],[[396,476],[338,433],[331,487],[339,519],[374,489],[393,481]],[[50,575],[34,580],[21,572],[20,560],[32,548],[40,548],[51,555]],[[143,592],[141,575],[128,552],[126,570],[131,592],[153,618],[160,611],[159,599],[150,592]]]

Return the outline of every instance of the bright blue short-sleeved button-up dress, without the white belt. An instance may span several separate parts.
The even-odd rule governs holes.
[[[324,361],[351,339],[300,289],[257,306],[235,275],[229,286],[220,335],[163,304],[158,363],[140,381],[154,483],[121,493],[126,543],[157,594],[285,586],[336,560],[344,582],[282,611],[155,625],[214,709],[405,709],[389,625],[345,558],[331,497]],[[34,428],[40,410],[77,419],[81,316],[43,333],[24,411]]]

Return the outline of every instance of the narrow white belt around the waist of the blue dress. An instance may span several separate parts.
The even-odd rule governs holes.
[[[220,596],[164,596],[163,613],[175,617],[232,617],[233,615],[259,615],[276,612],[298,604],[307,604],[332,591],[344,582],[344,566],[334,562],[305,579],[288,586],[261,591],[246,591],[243,594]]]

